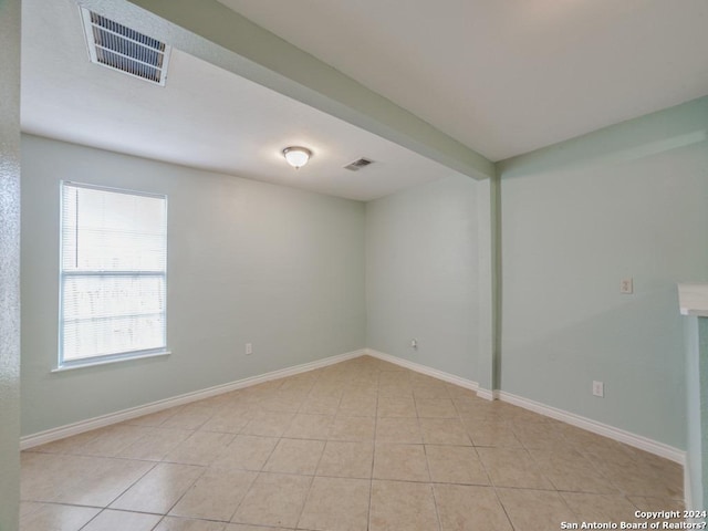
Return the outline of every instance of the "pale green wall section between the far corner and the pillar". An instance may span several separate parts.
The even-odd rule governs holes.
[[[488,189],[451,176],[366,204],[368,347],[475,379],[489,342],[478,244],[478,201],[488,201]]]

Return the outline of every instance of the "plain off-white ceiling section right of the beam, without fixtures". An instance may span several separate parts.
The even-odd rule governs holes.
[[[708,94],[706,0],[219,0],[491,160]]]

